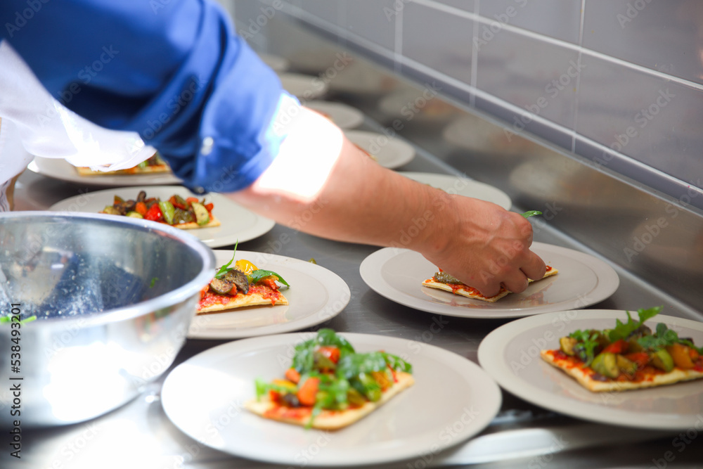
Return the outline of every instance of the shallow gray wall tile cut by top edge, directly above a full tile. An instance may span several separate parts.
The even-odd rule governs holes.
[[[581,0],[489,0],[479,14],[512,26],[579,44]]]

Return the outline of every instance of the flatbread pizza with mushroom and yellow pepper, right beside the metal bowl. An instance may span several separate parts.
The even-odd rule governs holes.
[[[278,283],[290,286],[283,277],[273,271],[258,269],[246,259],[236,261],[231,267],[235,255],[230,262],[219,267],[212,281],[201,290],[198,314],[288,304],[288,300],[278,290]]]

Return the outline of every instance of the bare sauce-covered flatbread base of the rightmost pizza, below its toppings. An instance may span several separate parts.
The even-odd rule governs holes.
[[[628,390],[639,390],[645,387],[657,387],[672,385],[679,381],[696,380],[703,378],[703,371],[683,370],[673,368],[668,373],[654,369],[650,366],[638,371],[632,380],[604,381],[602,376],[595,373],[588,366],[583,366],[583,362],[572,356],[562,356],[558,350],[542,350],[540,356],[548,364],[559,368],[567,375],[574,378],[579,384],[591,392],[618,392]]]

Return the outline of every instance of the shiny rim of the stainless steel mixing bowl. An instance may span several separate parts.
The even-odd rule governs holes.
[[[188,246],[188,248],[193,249],[200,255],[203,261],[202,271],[200,274],[195,276],[193,280],[189,281],[185,285],[182,285],[175,290],[172,290],[163,295],[159,295],[151,300],[146,300],[144,302],[139,302],[131,306],[125,306],[115,309],[108,309],[107,311],[102,311],[94,314],[88,314],[86,316],[80,315],[71,318],[49,318],[41,319],[41,323],[47,326],[56,325],[64,327],[66,325],[70,326],[72,323],[80,323],[80,327],[85,326],[97,326],[102,323],[110,323],[115,321],[124,321],[133,319],[145,314],[152,313],[153,311],[158,311],[159,309],[165,309],[167,307],[174,306],[187,300],[189,297],[195,293],[200,292],[202,287],[207,285],[212,276],[214,275],[214,263],[215,257],[214,253],[210,248],[208,248],[201,240],[195,238],[195,236],[186,233],[183,230],[173,228],[165,224],[157,223],[156,221],[149,221],[144,219],[137,219],[131,217],[115,217],[115,215],[101,214],[101,213],[83,213],[83,212],[50,212],[50,211],[24,211],[24,212],[0,212],[0,219],[2,218],[22,218],[27,217],[34,218],[65,218],[65,219],[96,219],[98,221],[108,222],[110,224],[127,224],[131,225],[136,229],[141,231],[151,230],[160,233],[165,233],[172,238],[176,238],[181,241],[181,243]],[[193,311],[195,315],[195,311]],[[9,331],[9,328],[0,328],[0,333],[3,330]]]

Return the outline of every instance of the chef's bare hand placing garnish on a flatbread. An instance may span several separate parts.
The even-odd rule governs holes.
[[[417,249],[448,274],[493,296],[501,285],[514,293],[538,280],[545,264],[529,250],[532,226],[522,215],[493,203],[449,196],[432,236]]]

